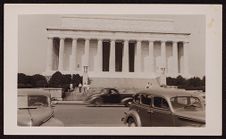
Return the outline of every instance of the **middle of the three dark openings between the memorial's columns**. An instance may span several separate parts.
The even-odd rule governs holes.
[[[115,71],[122,71],[122,42],[115,43]]]

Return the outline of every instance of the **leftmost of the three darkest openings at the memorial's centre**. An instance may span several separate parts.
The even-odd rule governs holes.
[[[109,71],[110,42],[103,42],[103,71]]]

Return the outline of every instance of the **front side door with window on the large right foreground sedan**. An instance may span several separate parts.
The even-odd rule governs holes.
[[[165,98],[153,97],[153,109],[150,114],[152,126],[174,126],[172,112]]]

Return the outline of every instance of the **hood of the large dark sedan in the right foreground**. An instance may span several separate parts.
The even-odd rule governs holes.
[[[177,115],[180,118],[193,120],[200,123],[205,123],[205,111],[199,110],[199,111],[187,111],[187,110],[177,110],[175,112],[175,115]]]

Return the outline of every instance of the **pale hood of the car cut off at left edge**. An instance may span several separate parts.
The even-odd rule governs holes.
[[[53,116],[53,109],[36,108],[36,109],[19,109],[17,111],[17,124],[19,126],[40,126]],[[32,124],[32,125],[30,125]]]

